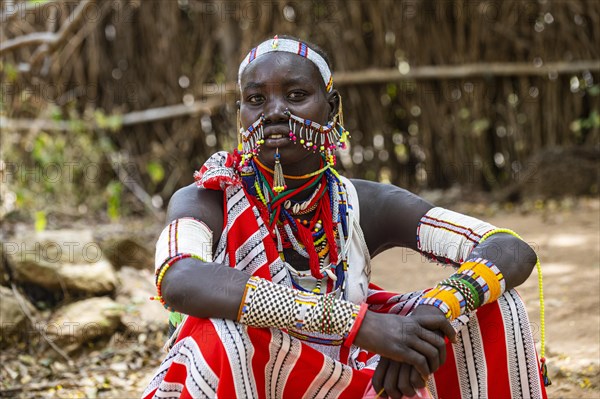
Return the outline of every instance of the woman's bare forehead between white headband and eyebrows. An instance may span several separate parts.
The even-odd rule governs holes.
[[[304,82],[323,85],[319,69],[312,61],[296,54],[272,52],[252,61],[241,76],[241,89],[247,86]]]

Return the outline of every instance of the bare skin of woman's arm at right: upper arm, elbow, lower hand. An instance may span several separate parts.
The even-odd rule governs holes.
[[[417,226],[433,206],[418,196],[394,186],[364,180],[353,180],[353,183],[360,200],[361,227],[371,255],[375,256],[394,246],[417,250]],[[529,277],[537,256],[524,241],[510,234],[497,233],[476,245],[465,260],[476,258],[484,258],[494,263],[504,275],[506,289],[511,289]],[[411,314],[417,318],[436,315],[440,316],[442,312],[429,305],[421,305]],[[365,317],[361,330],[375,326],[372,318]],[[442,335],[441,331],[438,333]],[[360,335],[357,338],[360,338]],[[438,348],[437,361],[433,365],[430,364],[430,370],[435,370],[444,361],[445,349]],[[414,365],[382,357],[373,376],[373,386],[376,391],[385,388],[389,397],[401,397],[403,394],[413,396],[416,388],[425,386],[425,380]]]

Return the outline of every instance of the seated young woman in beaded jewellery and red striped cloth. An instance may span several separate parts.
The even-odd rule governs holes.
[[[175,193],[157,243],[156,299],[177,330],[144,396],[544,397],[512,290],[533,250],[340,176],[341,98],[314,45],[261,43],[239,84],[240,147]],[[386,292],[369,283],[370,259],[397,246],[458,269],[433,289]]]

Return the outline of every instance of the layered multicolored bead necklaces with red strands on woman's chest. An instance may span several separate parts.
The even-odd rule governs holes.
[[[333,168],[323,168],[323,172],[307,178],[297,189],[277,193],[271,189],[272,175],[261,167],[260,162],[253,159],[248,166],[253,173],[248,170],[242,173],[244,186],[263,218],[268,221],[269,232],[281,259],[285,261],[284,248],[292,248],[307,258],[310,275],[318,281],[317,290],[320,290],[319,280],[325,276],[334,282],[333,289],[345,286],[348,266],[343,248],[348,238],[347,197],[337,172]],[[292,209],[289,205],[295,202],[294,196],[306,190],[312,190],[312,193],[295,205],[301,204],[300,207],[305,207],[304,211],[312,208],[314,213],[310,219],[302,220],[294,217],[298,216],[294,212],[295,205],[291,206]],[[299,211],[302,213],[301,209]],[[288,270],[290,268],[293,269],[288,265]],[[291,274],[296,276],[308,275],[293,270],[295,273]]]

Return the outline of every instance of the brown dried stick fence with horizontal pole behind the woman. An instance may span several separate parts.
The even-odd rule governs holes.
[[[172,176],[152,189],[163,197],[233,145],[237,92],[226,82],[244,52],[274,33],[330,54],[353,134],[344,159],[362,163],[346,163],[347,173],[357,177],[494,188],[544,147],[600,136],[588,123],[600,109],[597,1],[8,3],[2,73],[13,65],[23,90],[4,96],[0,127],[70,134],[68,121],[46,119],[49,103],[90,129],[90,109],[121,115],[121,132],[109,136],[144,179],[149,161],[169,160]],[[85,7],[97,18],[82,24]],[[23,102],[40,82],[52,98]],[[479,165],[473,175],[444,174],[465,163]]]

